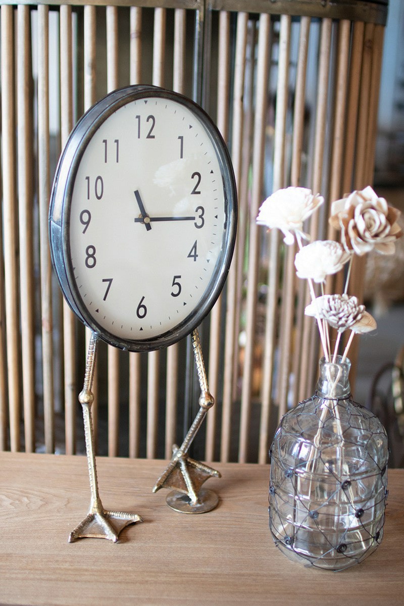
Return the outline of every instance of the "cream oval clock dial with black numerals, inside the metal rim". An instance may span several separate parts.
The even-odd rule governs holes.
[[[110,115],[85,148],[70,206],[70,254],[100,327],[142,340],[205,301],[224,245],[220,165],[182,104],[151,97]]]

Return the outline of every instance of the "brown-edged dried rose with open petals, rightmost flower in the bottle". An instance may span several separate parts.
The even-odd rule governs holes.
[[[384,198],[378,198],[368,186],[333,202],[329,222],[341,230],[345,250],[360,256],[373,249],[392,255],[396,239],[402,236],[396,222],[399,216],[397,208],[389,206]]]

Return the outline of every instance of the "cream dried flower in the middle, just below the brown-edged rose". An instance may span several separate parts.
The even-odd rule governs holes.
[[[296,275],[298,278],[324,282],[326,276],[342,269],[350,257],[350,253],[347,253],[339,242],[316,240],[296,253]]]

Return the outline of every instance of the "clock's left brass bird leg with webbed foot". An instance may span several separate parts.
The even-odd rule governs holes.
[[[94,452],[93,422],[91,419],[91,404],[93,404],[93,384],[94,367],[96,359],[98,340],[95,335],[91,335],[88,345],[87,362],[85,366],[84,386],[79,395],[79,402],[83,409],[85,449],[87,451],[88,475],[90,476],[91,500],[88,514],[84,520],[71,531],[69,542],[82,537],[95,537],[101,539],[110,539],[113,542],[118,541],[118,535],[122,528],[134,522],[141,522],[141,516],[136,513],[127,513],[125,511],[105,511],[102,507],[98,492],[98,479],[96,470],[96,460]]]

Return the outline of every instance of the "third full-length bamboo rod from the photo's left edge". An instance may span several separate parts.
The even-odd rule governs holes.
[[[55,449],[53,408],[52,268],[48,245],[50,195],[49,161],[49,8],[38,6],[38,202],[41,262],[42,382],[44,433],[47,453]]]

